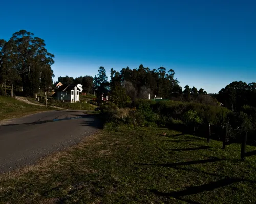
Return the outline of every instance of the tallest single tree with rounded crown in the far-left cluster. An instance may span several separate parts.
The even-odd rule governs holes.
[[[47,51],[44,40],[33,36],[31,32],[20,30],[8,41],[11,67],[17,70],[20,84],[25,93],[30,95],[36,94],[41,84],[48,84],[53,77],[51,65],[54,63],[54,55]],[[43,72],[50,75],[42,75]]]

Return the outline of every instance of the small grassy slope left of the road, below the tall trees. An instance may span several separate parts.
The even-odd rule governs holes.
[[[45,110],[47,109],[42,106],[34,106],[14,98],[0,96],[0,120],[16,118]]]

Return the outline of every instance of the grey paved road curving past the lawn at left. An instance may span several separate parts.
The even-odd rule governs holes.
[[[0,173],[78,143],[100,122],[82,111],[46,111],[0,123]]]

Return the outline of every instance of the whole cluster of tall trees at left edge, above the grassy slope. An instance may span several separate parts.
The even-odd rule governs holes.
[[[34,37],[33,33],[26,30],[14,33],[8,41],[0,39],[2,94],[6,95],[7,86],[19,87],[28,95],[36,94],[39,88],[51,89],[54,77],[51,65],[54,63],[54,55],[49,53],[45,46],[43,39]]]

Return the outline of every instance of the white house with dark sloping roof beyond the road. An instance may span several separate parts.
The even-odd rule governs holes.
[[[76,85],[60,86],[52,95],[55,100],[63,102],[79,102],[79,88]]]

